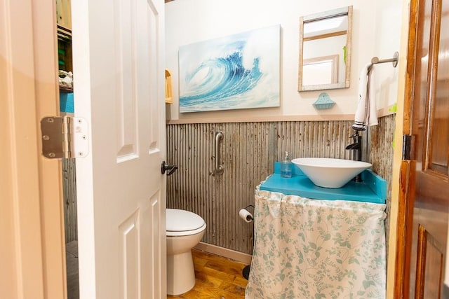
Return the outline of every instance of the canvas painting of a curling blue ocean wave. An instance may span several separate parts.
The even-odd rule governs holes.
[[[180,112],[279,106],[280,25],[179,50]]]

